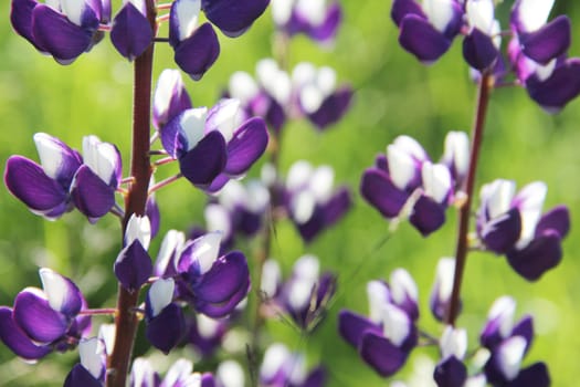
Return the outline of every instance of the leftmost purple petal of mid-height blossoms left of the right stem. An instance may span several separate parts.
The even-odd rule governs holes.
[[[377,168],[369,168],[365,171],[360,182],[360,192],[387,218],[397,217],[409,198],[404,191],[394,186],[388,174]]]

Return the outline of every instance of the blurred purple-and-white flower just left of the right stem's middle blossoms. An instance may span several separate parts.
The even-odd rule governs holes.
[[[351,206],[346,187],[333,190],[334,179],[330,166],[313,168],[305,160],[294,163],[288,170],[284,205],[306,242],[337,222]]]

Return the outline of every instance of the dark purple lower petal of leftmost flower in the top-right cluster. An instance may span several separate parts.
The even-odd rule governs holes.
[[[421,62],[434,62],[443,55],[451,42],[425,19],[409,14],[400,24],[399,43]]]

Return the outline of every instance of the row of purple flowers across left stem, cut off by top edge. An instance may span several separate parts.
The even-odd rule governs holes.
[[[193,80],[199,80],[220,53],[212,24],[228,36],[239,36],[264,12],[268,0],[176,0],[170,12],[159,20],[169,21],[169,44],[176,63]],[[12,0],[10,20],[14,30],[36,50],[61,64],[72,63],[110,32],[115,49],[133,61],[141,55],[157,35],[152,1],[127,1],[112,19],[109,0],[55,1]],[[200,12],[211,21],[198,27]]]

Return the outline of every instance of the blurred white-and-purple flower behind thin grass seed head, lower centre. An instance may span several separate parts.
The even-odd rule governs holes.
[[[262,292],[268,297],[266,310],[285,312],[302,330],[314,330],[336,291],[336,276],[330,272],[319,274],[318,258],[303,255],[294,263],[291,278],[281,283],[277,262],[267,260],[266,263],[261,284]]]

